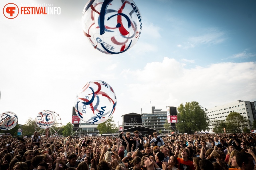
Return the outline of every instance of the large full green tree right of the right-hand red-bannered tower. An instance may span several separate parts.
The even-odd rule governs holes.
[[[188,102],[185,106],[181,103],[177,110],[179,131],[194,133],[194,131],[208,128],[209,119],[198,102]]]

